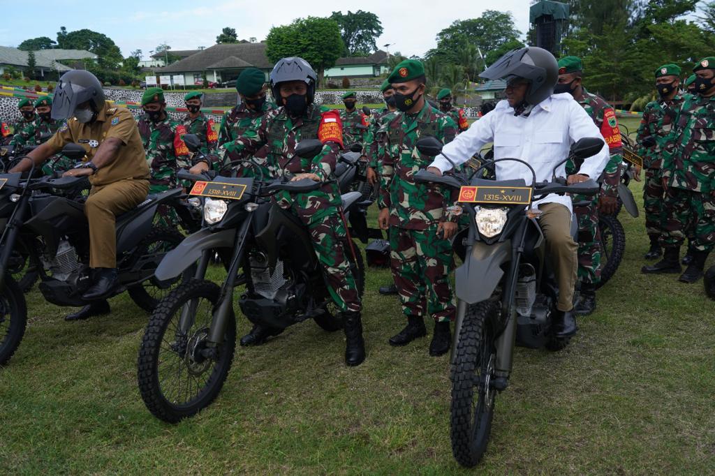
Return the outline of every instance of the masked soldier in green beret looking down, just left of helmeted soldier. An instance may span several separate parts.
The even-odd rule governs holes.
[[[275,103],[266,98],[265,74],[260,69],[244,69],[236,79],[236,90],[241,101],[221,119],[219,145],[235,141],[253,126],[256,119],[277,109]]]

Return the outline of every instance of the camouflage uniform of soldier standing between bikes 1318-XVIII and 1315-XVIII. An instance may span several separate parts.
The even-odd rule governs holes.
[[[406,316],[431,315],[448,322],[455,310],[449,280],[452,245],[438,237],[438,224],[457,217],[450,210],[455,200],[450,189],[417,184],[412,176],[432,162],[422,157],[415,143],[431,135],[447,143],[454,139],[452,119],[425,101],[418,114],[389,116],[379,133],[380,209],[390,210],[390,267]]]

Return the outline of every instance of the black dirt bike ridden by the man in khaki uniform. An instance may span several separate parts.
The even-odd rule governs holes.
[[[84,157],[84,148],[68,144],[62,150],[66,157]],[[32,177],[34,165],[29,172]],[[21,179],[21,174],[0,175],[0,216],[2,209],[11,209],[0,237],[0,292],[6,302],[0,311],[10,312],[3,317],[7,330],[0,334],[0,364],[9,360],[22,339],[19,329],[24,329],[25,317],[11,313],[12,302],[21,302],[14,296],[19,291],[9,275],[17,255],[29,257],[38,263],[43,297],[58,306],[84,306],[90,304],[82,294],[92,284],[89,268],[89,224],[84,215],[84,196],[77,195],[87,187],[86,177],[41,177]],[[132,300],[147,312],[172,287],[181,282],[181,273],[175,279],[159,281],[154,269],[164,254],[176,247],[184,238],[174,229],[157,228],[152,222],[159,204],[169,203],[181,194],[174,189],[149,195],[136,209],[117,217],[117,286],[109,297],[127,290]],[[193,272],[193,269],[187,270]],[[10,298],[9,295],[13,297]],[[24,302],[24,299],[22,299]],[[24,304],[18,304],[24,309]]]

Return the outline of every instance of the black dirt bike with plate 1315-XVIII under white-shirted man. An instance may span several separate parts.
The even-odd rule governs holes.
[[[442,144],[425,137],[417,147],[427,156],[436,156]],[[573,144],[571,154],[586,158],[602,148],[603,139],[581,139]],[[567,185],[566,179],[556,177],[556,169],[566,159],[554,167],[552,182],[540,183],[533,168],[520,159],[496,159],[491,164],[503,161],[528,167],[532,184],[526,185],[524,179],[479,178],[486,164],[468,180],[460,175],[438,177],[425,170],[414,176],[415,182],[460,189],[460,202],[470,217],[469,229],[455,238],[463,239],[465,250],[463,265],[455,272],[458,304],[450,360],[452,452],[466,467],[476,465],[486,450],[496,394],[508,386],[515,342],[558,350],[570,339],[551,332],[558,287],[545,261],[538,211],[531,204],[548,194],[598,193],[593,180]]]

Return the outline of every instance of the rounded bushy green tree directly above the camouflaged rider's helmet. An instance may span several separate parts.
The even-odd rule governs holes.
[[[325,69],[335,64],[344,48],[337,21],[315,16],[274,26],[266,36],[266,56],[270,61],[300,56],[317,72],[319,86]]]

